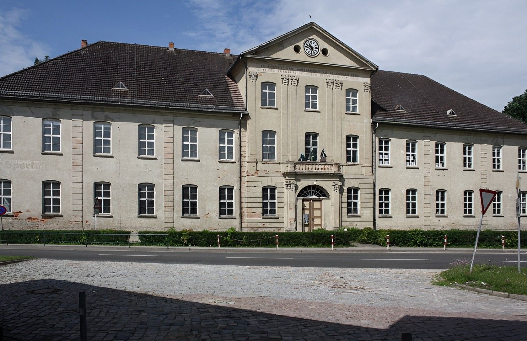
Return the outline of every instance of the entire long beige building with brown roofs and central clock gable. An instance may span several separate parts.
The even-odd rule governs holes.
[[[238,56],[97,42],[0,79],[11,229],[514,229],[527,126],[315,23]],[[522,213],[527,196],[522,192]]]

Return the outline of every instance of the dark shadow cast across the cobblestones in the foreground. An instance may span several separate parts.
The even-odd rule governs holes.
[[[527,322],[405,316],[388,329],[329,323],[54,279],[0,285],[6,340],[79,339],[79,291],[97,340],[524,340]]]

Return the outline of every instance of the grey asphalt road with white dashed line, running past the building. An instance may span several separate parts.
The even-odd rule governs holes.
[[[527,254],[522,251],[521,266],[527,266]],[[188,250],[162,248],[123,247],[54,247],[54,246],[0,246],[0,254],[34,256],[58,260],[123,261],[162,264],[291,266],[320,268],[391,268],[391,269],[445,269],[458,259],[472,259],[472,251],[364,251],[342,250]],[[480,250],[478,262],[515,266],[518,254],[501,250]]]

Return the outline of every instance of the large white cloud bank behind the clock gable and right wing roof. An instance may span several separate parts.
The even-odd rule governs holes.
[[[202,47],[245,51],[309,21],[379,65],[502,110],[527,88],[527,2],[194,0]]]

